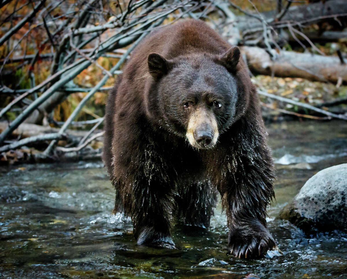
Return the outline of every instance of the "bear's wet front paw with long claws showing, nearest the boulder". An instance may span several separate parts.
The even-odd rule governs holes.
[[[229,232],[228,254],[237,258],[258,258],[268,250],[277,249],[277,244],[261,224],[231,229]]]

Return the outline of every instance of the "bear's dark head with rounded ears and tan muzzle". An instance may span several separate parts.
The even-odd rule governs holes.
[[[239,114],[239,58],[238,47],[221,55],[191,54],[173,60],[151,53],[147,110],[162,127],[186,137],[192,146],[214,147]]]

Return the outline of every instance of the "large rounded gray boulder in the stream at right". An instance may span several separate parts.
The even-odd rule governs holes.
[[[307,180],[280,218],[307,234],[347,228],[347,164],[321,170]]]

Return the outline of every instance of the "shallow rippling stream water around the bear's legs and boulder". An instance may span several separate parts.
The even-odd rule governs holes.
[[[269,230],[283,256],[226,254],[220,205],[209,231],[173,229],[180,250],[136,245],[132,225],[111,215],[114,192],[101,162],[0,169],[0,278],[347,278],[347,234],[307,238],[276,217],[305,181],[347,161],[347,122],[268,125],[276,159]]]

